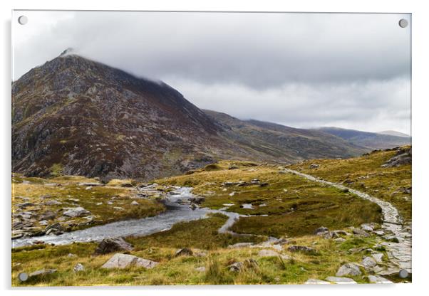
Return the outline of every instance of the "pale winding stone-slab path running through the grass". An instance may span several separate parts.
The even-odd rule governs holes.
[[[309,174],[303,174],[299,171],[294,171],[293,169],[282,169],[282,171],[289,172],[291,174],[296,174],[302,176],[310,181],[318,182],[328,186],[333,186],[341,190],[348,190],[351,194],[355,194],[362,199],[367,199],[373,203],[377,203],[380,206],[383,213],[383,230],[393,233],[396,238],[398,238],[398,243],[394,242],[383,242],[381,243],[387,250],[389,261],[393,264],[388,267],[387,270],[383,270],[381,275],[390,275],[393,273],[398,273],[398,270],[405,269],[408,273],[412,273],[411,269],[411,228],[410,226],[403,226],[403,221],[400,218],[398,210],[391,203],[387,201],[382,201],[377,199],[374,196],[366,194],[365,192],[358,191],[356,189],[351,189],[342,184],[334,183],[331,181],[326,181],[323,179],[316,178]]]

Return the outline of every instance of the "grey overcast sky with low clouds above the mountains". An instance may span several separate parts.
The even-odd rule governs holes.
[[[26,15],[21,26],[17,18]],[[410,134],[408,14],[16,11],[16,80],[64,49],[197,107],[292,127]]]

